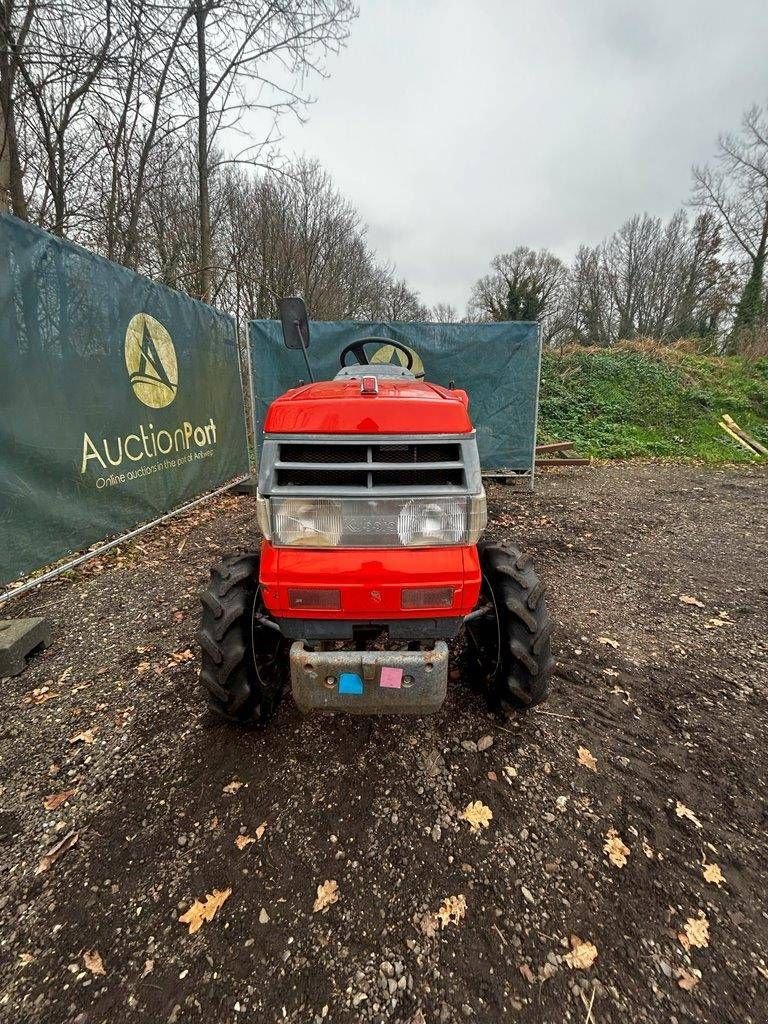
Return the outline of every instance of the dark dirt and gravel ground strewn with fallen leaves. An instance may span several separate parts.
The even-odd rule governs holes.
[[[767,484],[493,485],[559,624],[550,701],[508,720],[456,678],[429,719],[212,720],[198,593],[253,547],[248,497],[6,606],[54,643],[0,694],[0,1019],[762,1024]]]

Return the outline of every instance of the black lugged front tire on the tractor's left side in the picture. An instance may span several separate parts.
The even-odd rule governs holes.
[[[286,641],[260,622],[259,556],[229,555],[211,569],[201,595],[201,686],[212,712],[259,725],[272,715],[286,674]]]

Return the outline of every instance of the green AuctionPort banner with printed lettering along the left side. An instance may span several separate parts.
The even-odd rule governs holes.
[[[0,584],[247,472],[231,317],[0,215]]]

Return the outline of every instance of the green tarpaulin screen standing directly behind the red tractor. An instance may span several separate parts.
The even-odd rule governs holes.
[[[541,356],[537,324],[314,321],[309,334],[309,359],[317,379],[336,374],[339,352],[357,338],[377,335],[408,345],[423,364],[427,380],[444,386],[454,381],[469,392],[483,470],[532,472]],[[301,351],[284,347],[279,321],[252,321],[250,337],[260,430],[269,402],[298,380],[306,380],[307,373]],[[370,351],[373,355],[376,346]],[[383,346],[374,357],[394,361],[397,353]]]

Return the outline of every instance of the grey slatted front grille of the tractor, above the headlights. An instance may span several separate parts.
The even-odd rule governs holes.
[[[468,460],[476,462],[474,437],[265,438],[259,488],[262,494],[466,494],[473,489]]]

